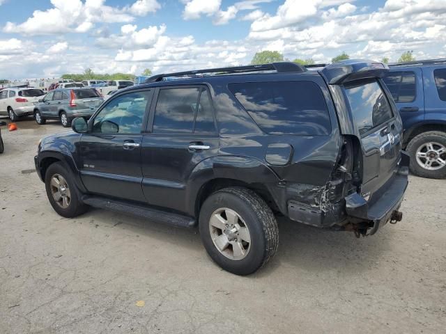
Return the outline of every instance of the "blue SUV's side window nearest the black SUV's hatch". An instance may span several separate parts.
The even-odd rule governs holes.
[[[385,85],[397,103],[415,101],[415,73],[412,71],[390,72],[384,79]]]

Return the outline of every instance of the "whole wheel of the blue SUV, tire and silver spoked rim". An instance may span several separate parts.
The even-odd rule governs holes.
[[[429,131],[419,134],[408,143],[406,151],[410,155],[410,171],[413,174],[431,179],[446,177],[445,132]],[[429,157],[423,157],[423,155]],[[431,163],[430,169],[429,166],[422,166],[428,160]]]

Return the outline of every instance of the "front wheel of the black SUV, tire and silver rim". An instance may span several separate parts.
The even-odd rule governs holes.
[[[63,186],[59,188],[59,196],[61,200],[56,201],[59,196],[53,196],[54,189],[56,189],[56,183],[52,183],[53,179],[56,178],[59,181],[59,185]],[[68,187],[67,187],[68,186]],[[84,214],[88,207],[82,203],[79,198],[79,191],[76,189],[75,182],[72,180],[72,175],[60,162],[56,162],[50,165],[45,173],[45,189],[47,190],[48,200],[51,203],[55,212],[66,218],[74,218],[81,214]],[[65,193],[65,198],[69,195],[69,200],[64,202],[63,193]]]

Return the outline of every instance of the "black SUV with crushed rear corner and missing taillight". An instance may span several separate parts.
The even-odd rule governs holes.
[[[357,236],[401,220],[409,159],[387,71],[344,61],[157,75],[43,138],[38,175],[61,216],[91,205],[199,225],[210,257],[246,275],[276,253],[276,214]]]

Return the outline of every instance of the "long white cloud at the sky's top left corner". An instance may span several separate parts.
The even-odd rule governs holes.
[[[160,8],[156,0],[137,0],[122,9],[106,6],[105,0],[51,0],[52,8],[35,10],[33,16],[21,24],[7,22],[5,33],[47,35],[52,33],[85,33],[95,22],[132,22],[133,15],[144,16]]]

